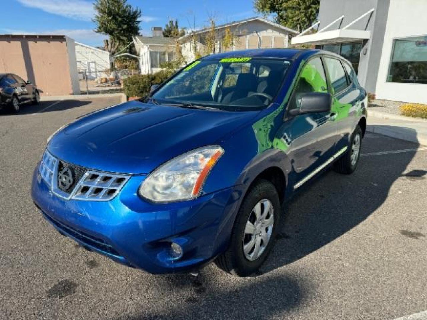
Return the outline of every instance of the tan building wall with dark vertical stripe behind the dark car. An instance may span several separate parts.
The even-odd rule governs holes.
[[[74,41],[69,40],[64,36],[0,35],[0,73],[15,73],[32,81],[42,96],[78,94],[76,67],[70,65],[75,61]],[[67,49],[67,44],[73,48]]]

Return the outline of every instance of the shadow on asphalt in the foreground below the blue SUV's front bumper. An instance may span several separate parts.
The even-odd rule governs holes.
[[[204,272],[197,277],[175,274],[158,276],[156,280],[160,291],[174,296],[170,308],[157,312],[150,308],[117,319],[267,319],[303,303],[309,290],[301,279],[297,281],[288,275],[240,279],[244,283],[234,289],[219,284],[219,279]],[[181,303],[176,301],[179,295]]]

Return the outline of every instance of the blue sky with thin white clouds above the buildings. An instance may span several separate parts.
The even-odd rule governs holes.
[[[142,10],[143,35],[152,26],[178,19],[180,27],[201,28],[214,15],[218,23],[255,16],[252,0],[128,0]],[[105,37],[93,32],[91,0],[12,0],[3,6],[0,34],[60,34],[93,46],[102,46]],[[6,8],[6,9],[5,9]]]

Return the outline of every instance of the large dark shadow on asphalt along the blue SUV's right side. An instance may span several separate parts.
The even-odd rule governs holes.
[[[377,143],[376,151],[396,150],[401,143],[418,148],[418,144],[400,140],[394,140],[400,143],[394,147],[375,142],[375,137],[368,139],[370,144]],[[424,178],[426,171],[421,168],[403,174],[414,156],[415,152],[362,156],[352,175],[330,170],[305,186],[284,205],[281,231],[260,272],[295,262],[356,227],[386,201],[390,187],[399,177]]]

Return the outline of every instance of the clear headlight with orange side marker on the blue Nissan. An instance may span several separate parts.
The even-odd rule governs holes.
[[[219,145],[199,148],[176,157],[156,169],[139,188],[139,194],[154,202],[196,198],[209,172],[224,154]]]

